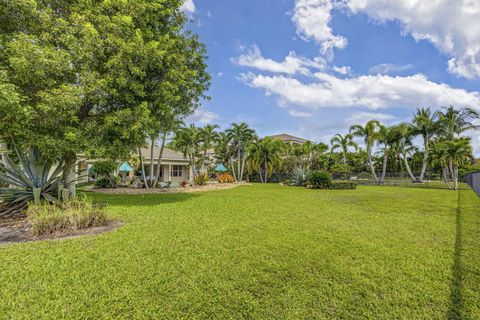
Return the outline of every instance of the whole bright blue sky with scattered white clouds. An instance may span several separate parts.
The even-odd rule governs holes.
[[[211,101],[191,119],[327,142],[417,107],[480,110],[480,3],[451,3],[188,0],[213,78]]]

